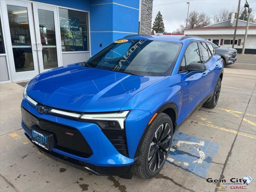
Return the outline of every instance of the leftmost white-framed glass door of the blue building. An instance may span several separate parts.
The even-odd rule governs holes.
[[[32,4],[1,0],[6,30],[6,47],[12,81],[28,80],[39,73]]]

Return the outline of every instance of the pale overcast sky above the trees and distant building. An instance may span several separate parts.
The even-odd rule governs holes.
[[[209,16],[213,16],[220,8],[237,8],[238,0],[188,0],[190,2],[189,12],[205,12]],[[164,4],[164,5],[162,5]],[[241,0],[240,6],[244,7],[245,0]],[[254,14],[256,9],[256,0],[249,0],[250,8]],[[159,6],[158,6],[159,5]],[[152,22],[156,18],[158,11],[164,18],[164,27],[166,32],[173,32],[184,23],[187,16],[186,0],[153,0],[153,17]]]

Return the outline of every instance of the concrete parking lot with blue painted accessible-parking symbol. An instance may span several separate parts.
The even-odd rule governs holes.
[[[219,102],[201,108],[174,134],[168,161],[155,178],[95,176],[41,154],[21,128],[23,87],[0,85],[0,191],[206,192],[256,191],[256,56],[238,55],[224,69]],[[254,178],[250,184],[207,182]],[[238,182],[239,183],[239,182]],[[224,188],[216,188],[223,186]],[[231,189],[244,186],[246,189]],[[226,187],[226,188],[225,188]]]

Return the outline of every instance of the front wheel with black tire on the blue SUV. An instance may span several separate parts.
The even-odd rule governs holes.
[[[170,151],[172,134],[171,118],[165,113],[158,114],[150,124],[139,148],[138,162],[134,169],[139,177],[149,179],[160,172]]]

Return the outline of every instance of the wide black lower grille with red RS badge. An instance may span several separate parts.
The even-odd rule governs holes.
[[[24,107],[21,108],[21,111],[22,122],[28,132],[31,133],[30,127],[32,125],[38,125],[41,130],[54,135],[54,148],[83,158],[88,158],[92,155],[90,146],[77,129],[40,119],[28,112]],[[66,134],[66,132],[73,135]]]

